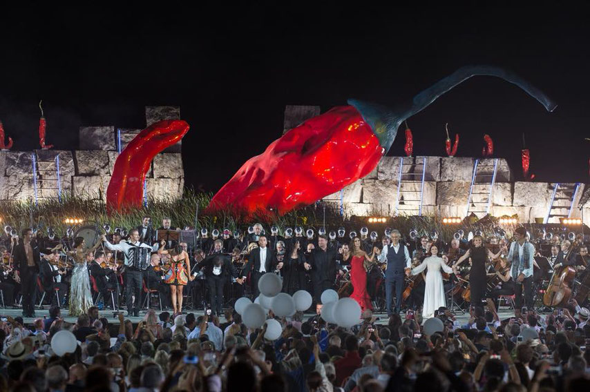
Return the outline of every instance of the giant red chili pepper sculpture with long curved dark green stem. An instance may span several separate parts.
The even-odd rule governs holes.
[[[308,119],[249,159],[211,199],[209,210],[254,213],[276,208],[286,213],[341,190],[377,166],[403,121],[474,75],[501,77],[524,89],[547,110],[555,108],[540,90],[510,72],[488,66],[460,68],[394,110],[349,100],[350,106],[337,106]]]

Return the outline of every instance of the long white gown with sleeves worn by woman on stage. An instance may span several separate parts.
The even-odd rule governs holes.
[[[453,268],[446,265],[441,257],[430,256],[426,257],[422,264],[412,269],[412,275],[418,275],[426,267],[428,267],[428,272],[426,273],[426,291],[424,291],[424,307],[422,308],[424,320],[435,317],[435,311],[441,306],[446,306],[441,268],[446,273],[453,273]]]

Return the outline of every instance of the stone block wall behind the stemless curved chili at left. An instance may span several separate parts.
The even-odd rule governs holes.
[[[146,107],[146,124],[162,119],[180,118],[180,108],[172,106]],[[122,149],[140,129],[122,130]],[[0,200],[35,198],[33,157],[37,178],[37,199],[58,197],[57,157],[59,156],[59,185],[62,195],[71,194],[91,199],[106,199],[108,182],[119,155],[114,126],[80,128],[80,148],[75,151],[35,150],[0,151]],[[178,199],[182,197],[184,170],[180,142],[155,156],[146,175],[149,197]]]

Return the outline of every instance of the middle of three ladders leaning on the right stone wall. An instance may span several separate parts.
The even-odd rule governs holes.
[[[499,159],[495,158],[493,165],[484,165],[479,159],[475,159],[465,216],[473,213],[482,217],[490,213],[498,161]],[[491,173],[490,170],[492,170]]]

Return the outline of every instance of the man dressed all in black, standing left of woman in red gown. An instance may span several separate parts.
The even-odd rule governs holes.
[[[334,288],[336,274],[342,271],[336,257],[338,257],[338,251],[327,247],[327,237],[322,234],[318,236],[318,247],[312,249],[307,255],[307,262],[303,263],[303,267],[312,277],[317,304],[321,303],[323,291]]]

